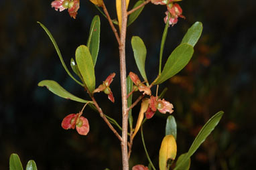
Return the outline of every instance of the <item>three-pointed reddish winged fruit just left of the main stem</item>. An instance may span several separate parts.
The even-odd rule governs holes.
[[[111,100],[111,102],[115,102],[115,98],[113,96],[113,93],[111,92],[111,88],[109,88],[114,77],[115,77],[115,73],[112,73],[111,75],[109,75],[106,78],[106,80],[103,82],[103,84],[101,84],[98,88],[96,88],[93,91],[93,93],[94,92],[105,92],[105,94],[108,95],[109,100]]]

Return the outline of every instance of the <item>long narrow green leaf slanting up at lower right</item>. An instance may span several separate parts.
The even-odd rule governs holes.
[[[210,133],[214,130],[215,126],[220,121],[220,118],[224,114],[223,111],[217,112],[204,124],[201,131],[196,136],[196,139],[192,143],[190,149],[188,150],[188,153],[183,157],[183,159],[180,161],[178,165],[174,168],[174,170],[179,169],[180,167],[183,167],[184,164],[186,164],[186,161],[194,154],[194,152],[200,147],[200,145],[204,142],[204,140],[210,135]]]

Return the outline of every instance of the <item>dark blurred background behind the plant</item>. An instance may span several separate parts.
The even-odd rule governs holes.
[[[37,86],[41,80],[55,80],[69,92],[88,99],[66,74],[54,46],[36,21],[50,29],[69,66],[76,48],[86,44],[90,21],[100,15],[99,11],[89,1],[81,0],[77,18],[72,19],[67,11],[52,9],[50,3],[0,1],[0,169],[9,169],[11,153],[21,157],[23,167],[34,159],[41,170],[121,169],[119,141],[97,112],[89,107],[84,110],[90,122],[87,136],[64,131],[60,126],[62,118],[78,112],[83,104]],[[105,3],[115,18],[114,1]],[[129,8],[134,3],[131,0]],[[174,104],[178,155],[188,151],[210,116],[224,110],[217,128],[192,156],[191,169],[251,169],[256,154],[256,2],[198,0],[179,4],[186,19],[179,19],[170,27],[164,61],[192,23],[201,21],[204,29],[188,66],[159,87],[160,91],[168,88],[164,98]],[[139,74],[130,44],[131,36],[139,35],[147,47],[145,67],[149,82],[158,72],[165,11],[162,5],[146,5],[127,30],[127,73]],[[96,98],[105,113],[121,124],[118,46],[107,19],[100,16],[97,86],[116,72],[111,84],[116,102],[112,104],[105,94],[96,94]],[[133,109],[135,118],[138,112],[139,106]],[[167,116],[156,114],[143,126],[147,149],[156,167]],[[148,164],[140,135],[135,137],[131,155],[131,165],[135,164]]]

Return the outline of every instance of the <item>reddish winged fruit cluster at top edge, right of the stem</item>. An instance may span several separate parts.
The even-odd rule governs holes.
[[[167,22],[168,15],[170,13],[170,18],[169,18],[169,25],[174,25],[178,22],[178,17],[185,18],[184,15],[182,15],[182,8],[178,3],[174,3],[177,1],[182,1],[182,0],[151,0],[151,3],[155,5],[166,5],[168,11],[166,11],[166,17],[164,17],[164,22]]]

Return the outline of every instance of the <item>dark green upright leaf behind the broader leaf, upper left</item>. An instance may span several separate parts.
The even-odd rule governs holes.
[[[87,47],[92,55],[92,62],[95,66],[97,62],[97,57],[99,53],[100,46],[100,33],[101,33],[101,20],[99,15],[96,15],[92,19],[92,23],[90,24],[90,34],[87,41]]]

